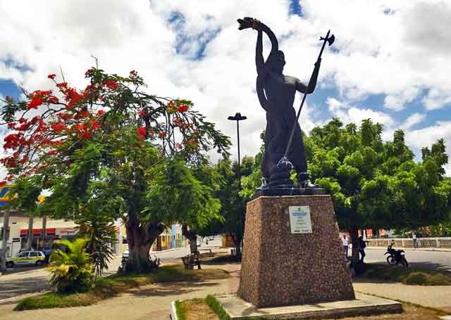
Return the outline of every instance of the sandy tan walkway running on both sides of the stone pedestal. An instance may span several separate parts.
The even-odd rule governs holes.
[[[205,281],[202,283],[162,283],[142,286],[118,297],[104,300],[89,307],[66,309],[42,309],[13,312],[15,302],[0,304],[1,320],[21,319],[158,319],[169,320],[170,302],[203,298],[209,294],[235,293],[240,277],[240,264],[204,264],[202,268],[224,269],[232,278]],[[406,286],[402,283],[387,283],[357,279],[354,290],[378,295],[388,299],[412,302],[417,305],[443,309],[451,313],[451,286]]]

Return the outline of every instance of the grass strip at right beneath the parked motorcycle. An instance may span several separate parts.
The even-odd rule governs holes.
[[[363,276],[369,279],[389,280],[409,285],[450,286],[451,273],[440,270],[405,269],[388,264],[367,264]]]

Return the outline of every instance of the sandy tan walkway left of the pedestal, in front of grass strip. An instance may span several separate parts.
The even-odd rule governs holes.
[[[230,272],[230,279],[204,282],[161,283],[142,286],[126,293],[101,301],[89,307],[73,307],[64,309],[39,309],[14,312],[14,302],[0,305],[1,320],[42,320],[42,319],[83,319],[83,320],[115,320],[115,319],[158,319],[170,320],[171,302],[204,298],[206,295],[237,292],[239,282],[239,264],[202,265],[204,269],[218,268]]]

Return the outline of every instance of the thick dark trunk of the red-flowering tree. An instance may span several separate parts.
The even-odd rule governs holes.
[[[144,273],[152,271],[149,251],[152,243],[164,231],[163,224],[140,224],[137,217],[129,213],[125,228],[129,252],[125,272]]]

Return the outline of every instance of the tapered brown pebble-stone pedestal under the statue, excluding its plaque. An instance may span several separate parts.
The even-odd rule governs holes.
[[[312,233],[292,234],[288,207],[308,205]],[[247,203],[240,296],[256,307],[355,298],[328,195]]]

